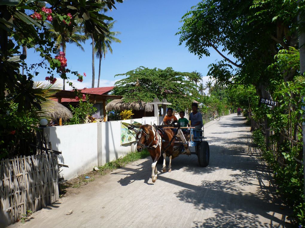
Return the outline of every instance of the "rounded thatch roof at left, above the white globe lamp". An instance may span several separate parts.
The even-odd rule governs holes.
[[[62,118],[63,121],[67,121],[73,116],[69,109],[67,109],[62,104],[52,100],[49,100],[48,104],[43,106],[41,109],[46,116],[51,117],[53,120]]]

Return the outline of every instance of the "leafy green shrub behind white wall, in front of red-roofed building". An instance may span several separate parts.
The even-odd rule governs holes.
[[[93,107],[93,103],[89,102],[89,96],[86,95],[86,101],[81,98],[76,107],[70,105],[73,117],[66,122],[67,125],[86,123],[86,118],[96,112],[96,108]]]

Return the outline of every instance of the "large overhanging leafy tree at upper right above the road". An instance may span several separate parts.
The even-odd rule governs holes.
[[[184,24],[177,35],[179,44],[185,42],[188,50],[199,58],[209,56],[210,47],[224,58],[212,64],[218,68],[213,77],[221,83],[252,84],[260,96],[270,98],[267,86],[276,75],[266,68],[273,63],[278,50],[296,47],[297,15],[296,1],[206,0],[183,16]],[[233,67],[234,74],[230,73]],[[293,76],[282,78],[289,81]]]

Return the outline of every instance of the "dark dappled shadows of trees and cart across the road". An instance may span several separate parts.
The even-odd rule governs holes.
[[[233,117],[233,127],[244,126],[243,122],[244,118]],[[231,123],[216,124],[232,127]],[[282,201],[273,186],[272,171],[260,159],[261,152],[255,148],[250,133],[238,132],[236,138],[226,138],[225,141],[216,134],[208,136],[210,164],[207,167],[199,166],[196,155],[180,155],[172,160],[173,172],[181,169],[189,174],[189,179],[213,173],[218,177],[216,172],[222,169],[227,170],[224,178],[203,180],[199,185],[193,185],[160,173],[157,181],[182,187],[174,193],[179,200],[192,204],[197,210],[212,211],[213,216],[194,220],[193,227],[289,227],[285,219],[290,211],[282,209]],[[222,141],[224,143],[220,144]],[[147,160],[135,167],[123,168],[124,171],[118,174],[124,173],[126,177],[118,182],[128,185],[142,180],[149,184],[151,164],[152,161]],[[158,170],[161,169],[162,164],[158,165]]]

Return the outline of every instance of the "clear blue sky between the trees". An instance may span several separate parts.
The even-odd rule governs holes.
[[[206,73],[208,65],[221,57],[214,50],[210,57],[198,59],[197,56],[188,52],[185,45],[178,46],[179,36],[175,36],[178,28],[182,26],[179,21],[181,17],[196,5],[198,0],[125,0],[123,3],[116,3],[117,9],[107,13],[117,22],[113,31],[121,32],[117,36],[122,43],[113,43],[113,54],[106,54],[102,60],[101,82],[102,86],[113,86],[114,82],[123,76],[114,77],[115,74],[125,73],[139,66],[157,67],[164,69],[172,67],[175,71],[202,73],[203,83],[208,80]],[[77,88],[91,88],[92,67],[91,67],[91,41],[87,40],[81,51],[73,44],[67,44],[66,58],[68,68],[79,73],[85,72],[82,83],[77,82],[75,76],[70,75],[70,81],[75,82]],[[27,63],[34,63],[41,58],[28,51]],[[95,59],[95,87],[98,77],[98,59]],[[34,78],[42,81],[46,76],[45,71]],[[57,77],[59,78],[59,76]],[[60,79],[59,82],[62,82]],[[69,86],[66,85],[66,89]]]

